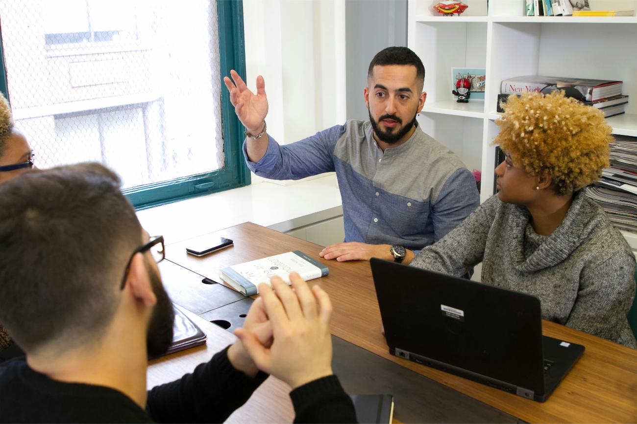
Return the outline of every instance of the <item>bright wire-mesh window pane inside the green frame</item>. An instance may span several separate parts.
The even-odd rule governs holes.
[[[36,166],[124,188],[224,166],[214,0],[0,0],[15,126]]]

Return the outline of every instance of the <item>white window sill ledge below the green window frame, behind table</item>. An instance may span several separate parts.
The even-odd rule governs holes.
[[[286,186],[264,181],[137,212],[148,233],[163,235],[166,244],[248,221],[290,231],[339,215],[343,207],[334,174]]]

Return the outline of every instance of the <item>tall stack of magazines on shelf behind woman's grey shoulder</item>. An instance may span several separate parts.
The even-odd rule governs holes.
[[[586,195],[617,228],[637,233],[637,141],[616,137],[610,144],[610,168],[603,170],[601,181],[586,188]]]

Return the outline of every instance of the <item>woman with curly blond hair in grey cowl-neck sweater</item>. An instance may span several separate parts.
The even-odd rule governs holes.
[[[561,91],[503,107],[497,195],[410,265],[460,277],[482,262],[483,284],[539,297],[544,319],[637,348],[633,253],[583,191],[608,167],[611,128]]]

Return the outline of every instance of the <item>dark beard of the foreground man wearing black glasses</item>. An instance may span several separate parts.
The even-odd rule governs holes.
[[[168,293],[162,285],[159,273],[148,262],[145,262],[150,284],[157,297],[157,304],[150,317],[150,325],[146,336],[148,358],[156,358],[164,355],[173,342],[173,323],[175,322],[175,310]]]

